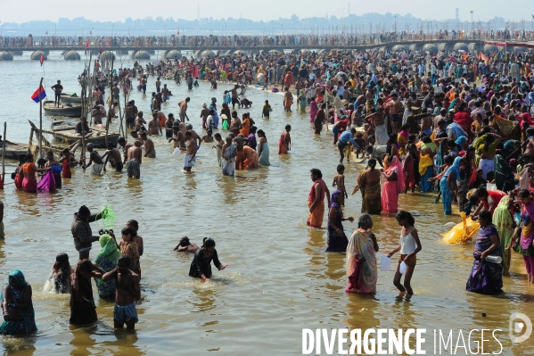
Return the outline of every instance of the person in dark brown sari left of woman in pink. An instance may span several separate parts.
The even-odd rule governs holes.
[[[352,195],[361,190],[362,212],[380,215],[382,212],[382,199],[380,196],[380,177],[382,174],[380,170],[375,170],[374,167],[376,167],[376,160],[372,158],[367,161],[367,169],[360,172]]]

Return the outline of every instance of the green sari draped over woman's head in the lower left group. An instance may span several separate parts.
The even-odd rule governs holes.
[[[117,260],[120,257],[119,248],[117,248],[117,243],[108,234],[100,236],[99,239],[102,250],[96,256],[94,264],[106,272],[111,271],[117,266]],[[115,296],[115,280],[111,279],[107,282],[103,282],[101,278],[94,278],[94,283],[96,284],[96,289],[98,289],[98,295],[101,298],[111,298]]]

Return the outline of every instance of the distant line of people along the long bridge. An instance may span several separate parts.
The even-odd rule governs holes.
[[[374,33],[356,33],[353,28],[342,30],[333,34],[286,34],[274,36],[44,36],[35,37],[0,37],[0,46],[4,48],[33,48],[33,47],[177,47],[177,48],[239,48],[239,47],[292,47],[292,46],[361,46],[380,45],[393,42],[408,41],[443,41],[443,40],[534,40],[534,31],[489,30],[489,31],[464,31],[439,30],[425,33],[423,30],[416,31],[391,31],[384,30]]]

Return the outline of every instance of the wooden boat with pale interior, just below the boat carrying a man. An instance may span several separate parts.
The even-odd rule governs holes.
[[[43,130],[44,133],[50,133],[56,141],[61,141],[64,145],[71,145],[81,139],[81,135],[76,132],[76,125],[78,121],[69,120],[53,120],[50,126],[50,131]],[[106,128],[102,126],[94,126],[90,128],[90,132],[86,134],[86,144],[91,143],[94,148],[106,147]],[[115,130],[108,130],[108,142],[117,145],[120,132]]]

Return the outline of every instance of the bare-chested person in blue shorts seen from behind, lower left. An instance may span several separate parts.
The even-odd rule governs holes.
[[[105,273],[102,280],[115,281],[115,308],[113,310],[113,327],[122,328],[126,324],[128,330],[136,327],[136,301],[141,298],[139,276],[129,269],[130,256],[123,254],[117,260],[117,267]]]

